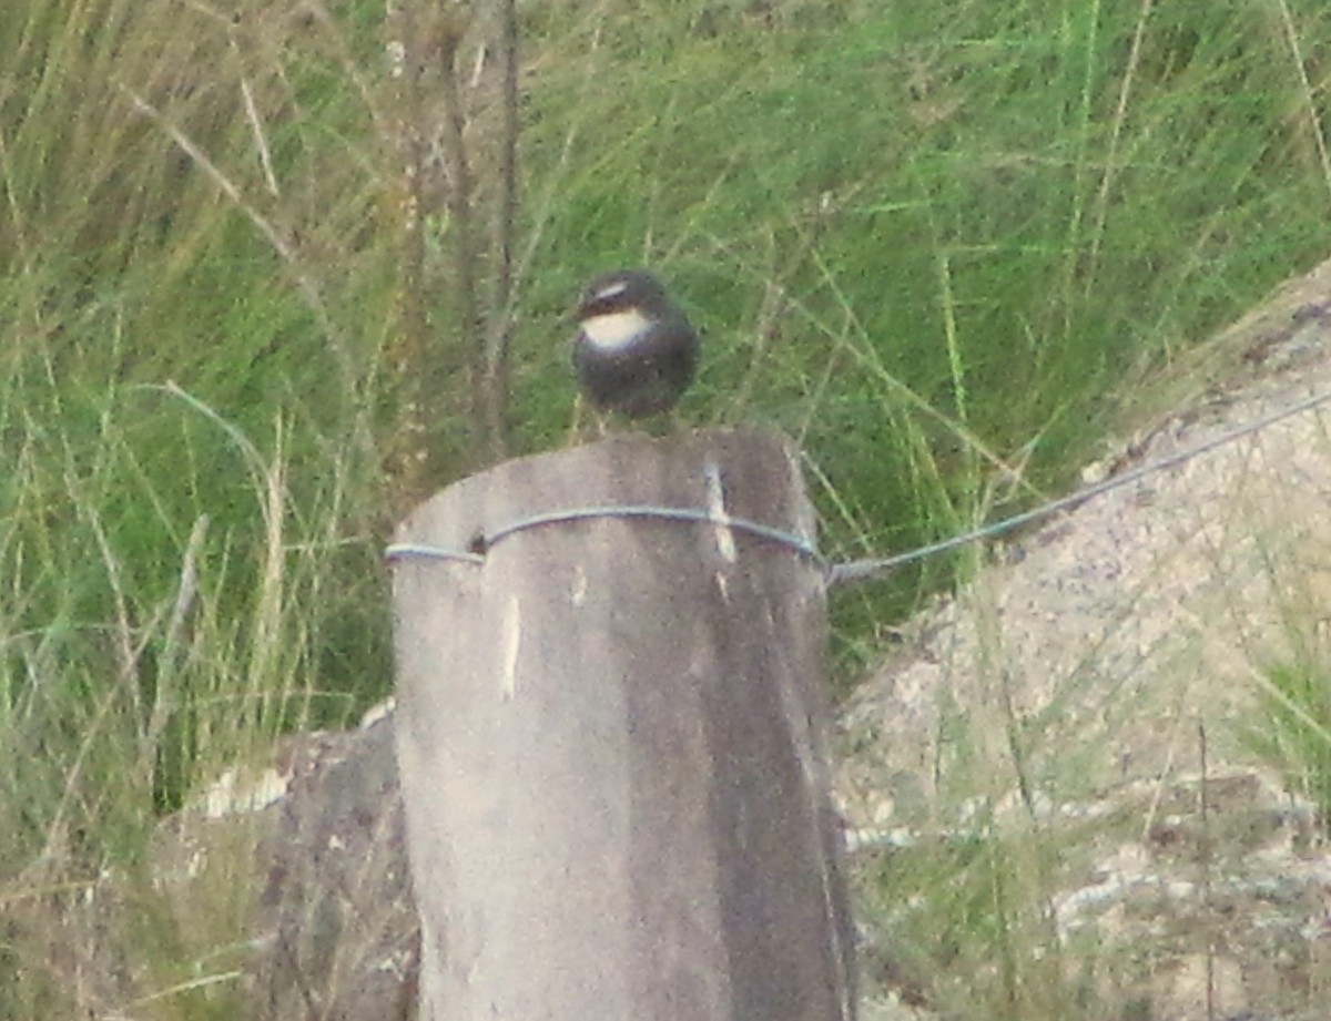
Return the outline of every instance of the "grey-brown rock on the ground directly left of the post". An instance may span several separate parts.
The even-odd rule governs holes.
[[[250,783],[224,776],[164,826],[154,871],[184,929],[216,932],[220,904],[244,912],[245,1017],[414,1017],[391,717],[286,738]]]

